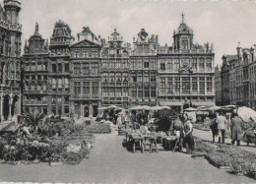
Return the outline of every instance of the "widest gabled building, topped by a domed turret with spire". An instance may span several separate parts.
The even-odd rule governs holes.
[[[194,106],[215,104],[213,46],[195,44],[193,39],[194,33],[182,15],[182,23],[173,32],[172,46],[159,49],[159,102],[178,112],[185,100]]]

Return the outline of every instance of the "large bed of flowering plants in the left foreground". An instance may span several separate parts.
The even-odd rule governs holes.
[[[72,121],[32,119],[24,115],[21,129],[0,136],[0,159],[6,163],[64,162],[78,164],[89,157],[94,135]]]

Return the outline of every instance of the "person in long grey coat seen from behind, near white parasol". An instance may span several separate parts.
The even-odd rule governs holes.
[[[237,146],[240,146],[240,141],[242,139],[242,124],[243,121],[236,111],[233,112],[233,117],[231,119],[231,131],[232,131],[232,141],[231,144],[234,145],[235,141]]]

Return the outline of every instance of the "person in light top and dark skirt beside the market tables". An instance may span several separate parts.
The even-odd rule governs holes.
[[[192,118],[188,117],[185,124],[184,124],[184,146],[186,147],[186,153],[193,153],[195,149],[195,141],[193,138],[193,125],[192,125]]]

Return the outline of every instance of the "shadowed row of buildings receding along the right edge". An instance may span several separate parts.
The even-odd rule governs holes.
[[[256,109],[255,45],[236,48],[235,55],[224,55],[222,76],[222,105],[235,104]]]

